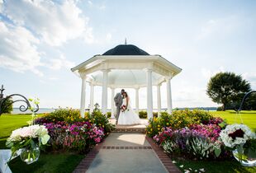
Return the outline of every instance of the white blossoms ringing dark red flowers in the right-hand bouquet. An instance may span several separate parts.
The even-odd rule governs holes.
[[[235,133],[236,130],[241,129],[244,132],[244,137],[236,137],[233,139],[229,136],[231,133]],[[256,138],[255,133],[253,133],[247,125],[244,124],[231,124],[227,125],[224,130],[220,132],[220,138],[226,147],[235,147],[240,144],[246,143],[247,140]]]

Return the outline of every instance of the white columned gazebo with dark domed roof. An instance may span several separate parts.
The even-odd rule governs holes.
[[[81,77],[81,107],[84,117],[85,87],[90,84],[90,112],[93,110],[94,86],[102,86],[102,113],[107,114],[107,88],[111,88],[111,117],[114,117],[116,88],[135,89],[135,109],[139,112],[139,90],[147,88],[148,117],[153,117],[152,86],[157,86],[158,111],[161,111],[160,86],[166,82],[168,113],[172,112],[171,79],[182,71],[160,55],[150,55],[132,44],[120,44],[102,55],[95,55],[71,71]]]

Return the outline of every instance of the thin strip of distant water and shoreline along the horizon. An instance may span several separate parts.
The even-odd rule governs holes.
[[[53,112],[55,110],[57,110],[59,108],[40,108],[37,112],[37,114],[45,114],[45,113],[50,113]],[[209,111],[216,111],[217,108],[216,107],[191,107],[191,108],[173,108],[173,110],[195,110],[195,109],[199,109],[199,110],[209,110]],[[146,109],[140,109],[141,110],[146,110]],[[166,108],[163,108],[162,111],[167,110]],[[107,111],[111,111],[111,110],[107,110]],[[154,109],[153,111],[157,111],[157,109]],[[19,108],[13,108],[12,110],[12,114],[17,115],[17,114],[31,114],[30,110],[26,110],[26,112],[21,112],[21,110],[19,110]]]

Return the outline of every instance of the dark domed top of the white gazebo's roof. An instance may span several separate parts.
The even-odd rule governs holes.
[[[102,55],[149,55],[143,49],[138,48],[133,44],[120,44],[115,48],[107,50]]]

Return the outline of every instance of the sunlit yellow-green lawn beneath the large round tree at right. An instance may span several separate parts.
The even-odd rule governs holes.
[[[243,110],[240,116],[236,114],[235,110],[225,110],[225,111],[212,111],[214,116],[227,119],[228,124],[240,124],[240,116],[243,119],[244,124],[248,125],[251,129],[256,129],[256,110]]]

